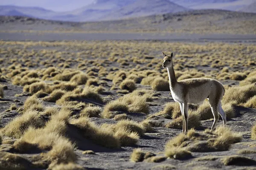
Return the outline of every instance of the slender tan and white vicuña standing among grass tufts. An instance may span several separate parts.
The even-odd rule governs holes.
[[[221,108],[221,99],[224,96],[223,85],[217,80],[209,78],[184,79],[178,82],[172,64],[173,53],[170,56],[163,53],[163,56],[163,68],[167,68],[168,71],[172,98],[180,104],[183,133],[188,131],[188,103],[202,103],[205,99],[209,100],[214,116],[211,131],[215,128],[219,114],[223,119],[223,124],[226,125],[226,113]]]

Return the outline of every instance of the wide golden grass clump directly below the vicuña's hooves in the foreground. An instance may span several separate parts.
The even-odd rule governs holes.
[[[223,151],[228,150],[231,144],[240,142],[241,139],[239,133],[234,133],[222,126],[217,127],[213,133],[210,133],[209,130],[202,133],[192,129],[186,135],[180,134],[167,142],[166,153],[171,153],[172,156],[172,153],[175,154],[175,149],[181,153],[183,153],[182,150],[190,152]]]

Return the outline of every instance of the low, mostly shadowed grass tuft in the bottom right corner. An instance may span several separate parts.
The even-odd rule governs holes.
[[[226,156],[223,159],[221,159],[221,162],[224,165],[238,165],[238,166],[256,165],[255,160],[246,156],[239,156],[239,155]]]

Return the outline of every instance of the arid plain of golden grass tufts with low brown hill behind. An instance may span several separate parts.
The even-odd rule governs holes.
[[[1,16],[0,39],[1,170],[255,170],[256,14]],[[181,134],[162,51],[178,81],[224,85],[227,127],[204,101]]]

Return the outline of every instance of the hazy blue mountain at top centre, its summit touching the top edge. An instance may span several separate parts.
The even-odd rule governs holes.
[[[187,8],[172,3],[169,0],[136,0],[134,3],[112,11],[101,19],[113,20],[129,17],[142,17],[153,14],[175,13],[187,10]]]

